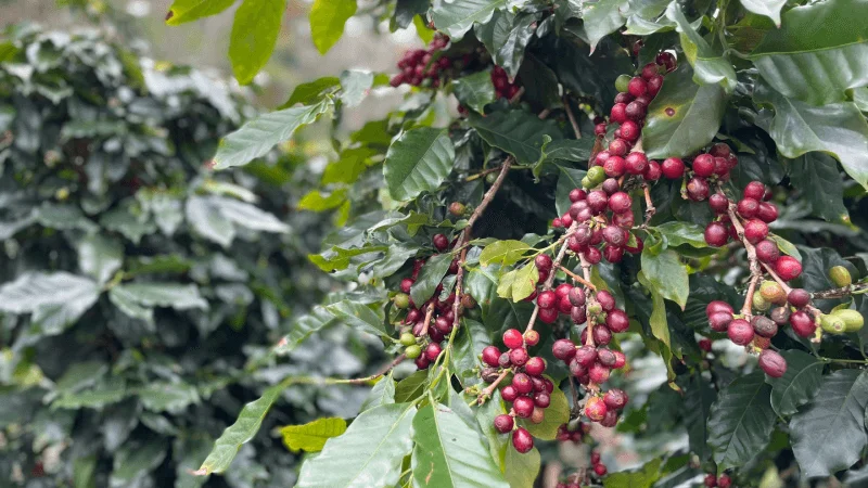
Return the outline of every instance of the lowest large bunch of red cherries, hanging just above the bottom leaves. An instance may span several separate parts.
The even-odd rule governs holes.
[[[529,330],[522,334],[515,329],[503,333],[503,345],[509,350],[500,351],[497,346],[488,346],[482,350],[482,361],[488,368],[482,372],[483,380],[493,382],[505,371],[512,374],[512,380],[502,386],[500,396],[511,404],[509,413],[497,415],[495,428],[501,434],[512,433],[512,447],[521,453],[534,448],[534,438],[524,427],[516,427],[514,418],[526,419],[538,424],[546,419],[545,410],[551,403],[554,384],[542,376],[546,372],[546,360],[531,357],[527,347],[539,344],[539,333]],[[509,377],[509,376],[507,376]],[[502,383],[501,383],[502,384]]]

